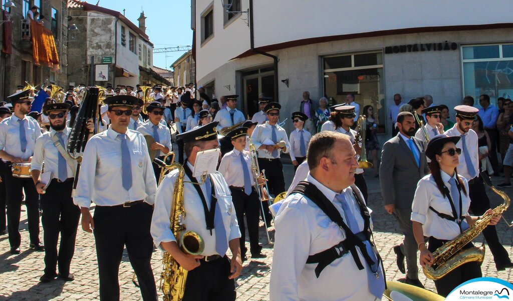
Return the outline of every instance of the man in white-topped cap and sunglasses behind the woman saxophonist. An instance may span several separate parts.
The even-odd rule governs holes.
[[[472,130],[472,125],[477,119],[479,110],[473,106],[457,105],[456,124],[445,132],[447,136],[461,137],[456,147],[461,148],[458,173],[468,181],[468,193],[470,197],[470,211],[473,214],[484,214],[490,209],[490,199],[486,194],[483,180],[479,177],[479,147],[478,135]],[[513,268],[507,250],[502,246],[495,226],[488,226],[483,230],[483,236],[494,255],[495,266],[498,271]]]

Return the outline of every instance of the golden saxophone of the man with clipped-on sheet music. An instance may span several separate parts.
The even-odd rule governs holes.
[[[176,238],[180,248],[188,254],[200,255],[205,249],[205,243],[201,236],[194,231],[187,231],[183,221],[185,219],[184,209],[184,176],[185,170],[179,163],[173,163],[173,167],[178,169],[178,176],[174,182],[173,205],[171,206],[170,229]],[[162,259],[163,271],[161,272],[161,281],[159,288],[164,293],[165,301],[180,301],[184,297],[185,282],[187,280],[187,270],[173,259],[168,253],[164,252]]]

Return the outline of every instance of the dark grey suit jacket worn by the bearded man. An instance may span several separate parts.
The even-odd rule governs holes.
[[[396,208],[411,210],[417,183],[429,173],[424,141],[412,137],[420,152],[420,167],[400,134],[388,140],[381,152],[380,184],[385,205],[394,204]]]

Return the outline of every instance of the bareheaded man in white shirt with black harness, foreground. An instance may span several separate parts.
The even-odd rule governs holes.
[[[306,182],[275,218],[271,300],[381,300],[385,279],[370,209],[353,185],[355,157],[347,135],[312,137]]]

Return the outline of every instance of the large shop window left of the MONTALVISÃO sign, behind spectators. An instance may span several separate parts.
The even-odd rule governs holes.
[[[383,76],[383,53],[368,52],[323,57],[324,96],[328,105],[346,102],[349,93],[360,105],[360,115],[366,105],[374,109],[378,133],[385,133],[386,108]]]

